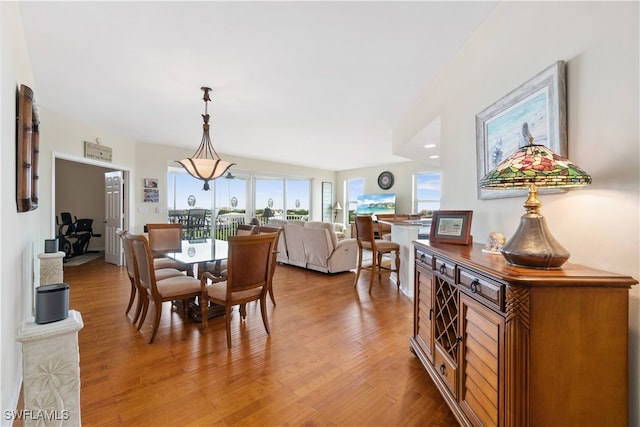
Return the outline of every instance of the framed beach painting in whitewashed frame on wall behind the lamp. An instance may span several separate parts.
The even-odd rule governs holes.
[[[530,138],[567,156],[567,103],[564,61],[538,75],[476,115],[478,184]],[[478,185],[479,199],[519,197],[524,191],[487,191]]]

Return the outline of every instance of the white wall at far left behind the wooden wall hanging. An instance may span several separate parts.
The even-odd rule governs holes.
[[[21,347],[16,330],[31,315],[34,255],[42,252],[40,213],[18,213],[16,208],[16,89],[26,84],[37,87],[24,42],[17,3],[0,2],[0,409],[13,409],[22,381]],[[42,193],[42,184],[40,187]],[[2,416],[2,425],[10,421]]]

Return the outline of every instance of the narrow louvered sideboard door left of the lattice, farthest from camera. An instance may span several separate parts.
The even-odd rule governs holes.
[[[433,363],[433,274],[416,266],[414,336],[429,362]]]

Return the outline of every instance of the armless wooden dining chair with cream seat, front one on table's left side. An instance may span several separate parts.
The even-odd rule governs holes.
[[[203,297],[203,285],[200,280],[193,276],[180,274],[162,280],[156,277],[156,270],[153,267],[153,255],[147,238],[142,235],[126,234],[126,239],[131,245],[133,260],[135,265],[135,280],[142,299],[142,312],[138,322],[138,329],[142,327],[149,309],[149,302],[154,305],[155,315],[153,318],[151,337],[149,344],[153,342],[158,333],[160,317],[162,315],[162,303],[165,301],[182,300],[183,314],[186,315],[186,308],[189,300],[195,297]],[[144,295],[144,296],[143,296]]]

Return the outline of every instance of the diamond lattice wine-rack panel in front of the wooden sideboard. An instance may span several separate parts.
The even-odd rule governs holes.
[[[451,360],[457,362],[458,290],[437,276],[435,285],[435,339]]]

